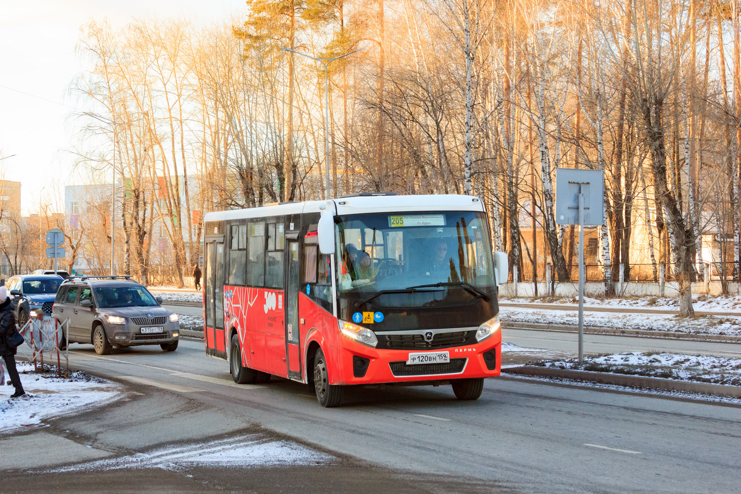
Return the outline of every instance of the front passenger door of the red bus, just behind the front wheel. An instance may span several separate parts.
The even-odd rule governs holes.
[[[285,341],[288,377],[301,378],[301,338],[299,338],[299,241],[286,233],[288,270],[285,280]]]

